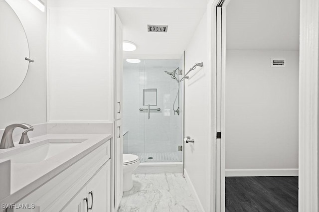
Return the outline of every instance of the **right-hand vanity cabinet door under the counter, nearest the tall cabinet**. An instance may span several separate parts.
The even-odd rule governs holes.
[[[109,160],[86,186],[90,212],[110,212],[110,177],[111,161]]]

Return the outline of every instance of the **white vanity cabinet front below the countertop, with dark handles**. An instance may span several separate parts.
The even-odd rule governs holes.
[[[35,209],[7,209],[7,212],[110,212],[110,144],[111,140],[104,141],[15,203],[34,204]],[[92,209],[89,209],[91,207]]]

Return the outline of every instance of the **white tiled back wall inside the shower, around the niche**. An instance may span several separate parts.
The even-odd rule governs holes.
[[[173,112],[177,83],[164,73],[173,71],[179,65],[180,60],[142,60],[140,64],[124,62],[123,127],[129,131],[128,152],[175,152],[177,161],[181,161],[178,146],[182,145],[182,114],[174,115]],[[158,92],[158,105],[151,106],[151,109],[160,108],[160,111],[151,111],[150,119],[147,111],[139,110],[147,108],[143,106],[143,89],[157,89]],[[180,98],[181,90],[182,87]]]

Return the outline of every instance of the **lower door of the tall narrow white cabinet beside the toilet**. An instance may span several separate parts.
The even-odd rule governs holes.
[[[116,121],[115,137],[115,210],[117,211],[123,196],[123,130],[122,119]]]

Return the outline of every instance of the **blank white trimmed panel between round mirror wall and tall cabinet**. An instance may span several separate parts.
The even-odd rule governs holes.
[[[48,14],[48,121],[113,122],[112,9]]]

